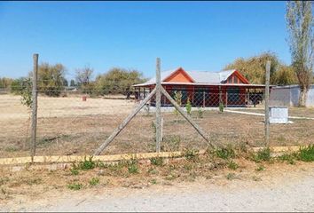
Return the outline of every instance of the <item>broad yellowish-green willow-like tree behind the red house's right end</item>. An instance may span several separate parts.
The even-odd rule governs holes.
[[[272,80],[280,64],[278,57],[272,52],[263,52],[248,59],[235,59],[231,64],[224,67],[224,70],[237,69],[250,83],[265,83],[265,67],[267,60],[271,60]]]

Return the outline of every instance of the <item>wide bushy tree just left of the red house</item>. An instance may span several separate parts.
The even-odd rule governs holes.
[[[132,85],[143,83],[145,79],[137,70],[127,70],[114,67],[104,75],[96,78],[96,87],[102,95],[104,94],[123,94],[130,99]]]

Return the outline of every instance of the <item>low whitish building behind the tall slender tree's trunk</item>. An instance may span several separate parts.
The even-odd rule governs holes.
[[[275,86],[271,88],[270,106],[298,106],[299,85]],[[314,106],[314,85],[310,85],[306,106]]]

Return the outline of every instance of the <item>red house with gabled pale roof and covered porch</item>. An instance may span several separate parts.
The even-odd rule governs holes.
[[[221,72],[186,71],[179,67],[161,72],[161,85],[174,98],[181,92],[184,106],[189,99],[192,106],[248,106],[263,99],[263,84],[251,84],[238,70]],[[155,78],[133,85],[138,99],[144,99],[155,86]],[[151,105],[155,105],[151,99]],[[161,96],[161,106],[170,106],[169,100]]]

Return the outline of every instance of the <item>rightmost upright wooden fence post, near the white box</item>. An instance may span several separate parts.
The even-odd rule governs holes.
[[[265,146],[270,145],[270,77],[271,61],[266,63],[266,81],[265,81]]]

